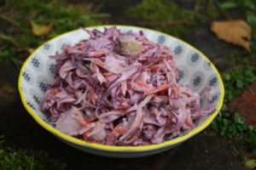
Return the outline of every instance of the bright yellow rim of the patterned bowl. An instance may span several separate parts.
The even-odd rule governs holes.
[[[136,29],[140,29],[140,30],[146,30],[146,31],[155,31],[153,29],[148,29],[148,28],[144,28],[144,27],[140,27],[140,26],[126,26],[126,25],[101,25],[101,26],[90,26],[90,27],[85,27],[85,29],[93,29],[93,28],[99,28],[99,27],[109,27],[109,26],[118,26],[118,27],[130,27],[130,28],[136,28]],[[73,31],[79,31],[79,29],[73,30]],[[176,39],[179,42],[183,42],[184,44],[186,44],[187,46],[189,46],[190,48],[193,48],[197,53],[201,54],[201,56],[207,60],[207,62],[209,62],[212,65],[212,69],[214,70],[214,72],[216,72],[217,77],[218,77],[218,81],[220,83],[220,88],[221,88],[221,94],[220,94],[220,98],[219,98],[219,102],[218,102],[218,106],[216,107],[216,110],[214,111],[214,113],[212,113],[211,116],[208,117],[207,121],[204,122],[203,124],[201,124],[201,126],[194,128],[193,130],[189,131],[189,133],[184,134],[183,136],[177,137],[176,139],[171,139],[168,140],[166,142],[160,143],[160,144],[149,144],[149,145],[145,145],[145,146],[113,146],[113,145],[105,145],[105,144],[94,144],[94,143],[88,143],[84,140],[81,139],[76,139],[72,136],[69,136],[65,133],[61,133],[60,131],[58,131],[57,129],[55,129],[55,127],[51,127],[47,122],[44,122],[44,120],[42,120],[28,105],[26,105],[26,98],[25,98],[25,94],[22,91],[21,85],[22,85],[22,72],[24,71],[26,64],[28,63],[28,61],[34,56],[34,54],[37,53],[37,51],[44,47],[45,44],[55,40],[58,37],[64,36],[66,34],[69,34],[73,31],[67,31],[57,37],[54,37],[52,39],[50,39],[47,42],[44,42],[42,45],[40,45],[38,48],[36,48],[32,54],[30,54],[26,61],[24,62],[24,64],[22,65],[21,69],[20,69],[20,76],[19,76],[19,80],[18,80],[18,89],[19,89],[19,93],[20,93],[20,98],[22,101],[22,104],[25,106],[26,111],[28,111],[28,113],[32,116],[32,118],[38,122],[38,124],[41,127],[44,127],[46,130],[48,130],[50,133],[55,134],[57,137],[61,138],[61,139],[65,139],[67,142],[71,142],[73,144],[79,144],[80,146],[85,146],[87,148],[90,149],[96,149],[96,150],[106,150],[106,151],[115,151],[115,152],[140,152],[140,151],[149,151],[149,150],[157,150],[160,148],[164,148],[164,147],[168,147],[174,144],[178,144],[186,139],[189,139],[190,137],[194,136],[196,133],[200,133],[203,129],[205,129],[215,118],[215,116],[218,115],[218,112],[220,111],[222,105],[223,105],[223,101],[224,101],[224,83],[222,81],[222,78],[220,76],[220,74],[218,73],[217,68],[215,67],[215,65],[212,64],[211,60],[207,58],[207,56],[205,54],[202,54],[201,51],[199,51],[197,48],[193,47],[192,45],[190,45],[188,42],[184,42],[183,40],[177,38],[177,37],[173,37],[169,34],[166,34],[164,32],[161,31],[155,31],[158,32],[162,35],[165,35],[166,37],[171,37]]]

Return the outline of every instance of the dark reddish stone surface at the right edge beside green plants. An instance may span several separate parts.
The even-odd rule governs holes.
[[[256,82],[233,99],[230,103],[230,111],[240,113],[247,123],[256,126]]]

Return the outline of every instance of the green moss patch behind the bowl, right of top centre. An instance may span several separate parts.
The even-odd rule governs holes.
[[[177,4],[168,0],[143,0],[127,11],[139,20],[148,22],[162,22],[163,25],[154,26],[154,29],[165,31],[173,36],[182,37],[189,32],[191,26],[195,26],[195,12],[180,8]],[[167,25],[167,21],[188,20],[189,26]]]

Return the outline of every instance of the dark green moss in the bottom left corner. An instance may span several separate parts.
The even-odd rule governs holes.
[[[13,150],[3,148],[3,136],[0,136],[1,170],[63,170],[66,164],[53,159],[44,151]]]

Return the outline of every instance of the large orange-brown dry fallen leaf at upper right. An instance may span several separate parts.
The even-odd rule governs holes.
[[[252,38],[252,29],[246,21],[214,21],[212,22],[211,30],[219,39],[239,45],[250,51],[249,40]]]

